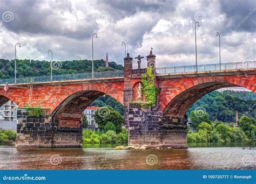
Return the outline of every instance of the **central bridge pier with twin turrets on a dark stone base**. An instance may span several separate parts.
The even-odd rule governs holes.
[[[156,77],[156,55],[152,51],[147,58],[147,67],[153,67]],[[124,58],[124,105],[125,123],[129,130],[129,145],[147,145],[152,148],[187,148],[187,118],[163,113],[160,108],[160,96],[156,107],[142,108],[136,105],[138,82],[142,80],[145,69],[132,69],[132,58]],[[156,77],[156,87],[159,87]],[[145,98],[144,98],[145,100]]]

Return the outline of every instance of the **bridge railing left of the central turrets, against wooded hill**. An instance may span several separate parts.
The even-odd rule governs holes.
[[[109,72],[95,72],[94,78],[111,78],[111,77],[122,77],[124,76],[124,70],[114,70]],[[35,76],[35,77],[20,77],[16,79],[16,83],[30,83],[31,79],[33,82],[50,82],[51,76]],[[52,81],[72,81],[72,80],[83,80],[92,79],[92,73],[82,74],[63,74],[63,75],[52,75]],[[14,84],[15,79],[1,79],[0,84]]]

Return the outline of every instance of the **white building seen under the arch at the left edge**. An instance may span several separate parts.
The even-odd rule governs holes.
[[[0,129],[17,130],[17,105],[8,101],[0,107]]]

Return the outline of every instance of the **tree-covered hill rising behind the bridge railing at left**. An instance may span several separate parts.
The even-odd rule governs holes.
[[[51,74],[51,67],[49,61],[38,60],[16,60],[17,63],[17,77],[29,77],[29,76],[45,76]],[[92,61],[91,60],[73,60],[73,61],[53,61],[53,65],[57,65],[58,69],[52,70],[52,75],[60,74],[76,74],[91,72]],[[105,61],[94,60],[95,72],[103,72],[107,70],[123,70],[122,65],[117,65],[116,62],[109,62],[110,67],[105,67]],[[14,60],[0,59],[0,79],[14,78]]]

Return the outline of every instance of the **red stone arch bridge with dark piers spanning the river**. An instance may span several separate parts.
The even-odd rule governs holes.
[[[132,60],[127,54],[122,75],[46,80],[34,82],[33,86],[28,82],[9,83],[7,91],[1,88],[0,105],[11,100],[19,108],[16,146],[82,146],[82,112],[98,97],[108,94],[125,107],[129,145],[186,148],[186,111],[199,98],[224,87],[244,87],[256,92],[255,62],[202,65],[198,72],[195,66],[155,68],[156,56],[151,51],[147,66],[153,67],[160,93],[156,108],[145,110],[131,103],[137,100],[139,83],[146,72],[145,68],[133,69]],[[28,103],[32,107],[40,105],[44,115],[28,116]]]

